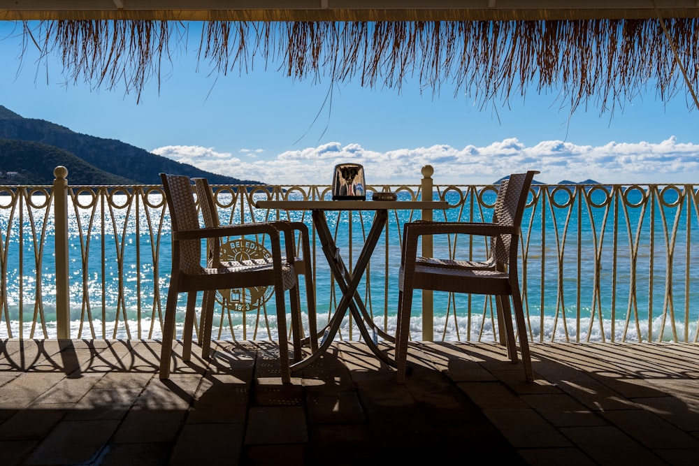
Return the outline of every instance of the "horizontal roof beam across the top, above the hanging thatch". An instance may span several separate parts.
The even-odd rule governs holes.
[[[0,0],[0,20],[446,21],[699,17],[698,0]]]

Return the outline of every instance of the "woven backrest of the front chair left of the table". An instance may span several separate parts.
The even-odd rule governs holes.
[[[161,173],[160,179],[163,182],[170,210],[173,232],[199,229],[199,215],[196,213],[194,192],[189,177]],[[174,241],[173,247],[176,247]],[[199,274],[203,271],[201,267],[201,242],[199,240],[180,241],[179,258],[178,267],[181,272]]]

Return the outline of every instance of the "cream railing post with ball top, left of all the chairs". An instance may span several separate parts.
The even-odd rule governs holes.
[[[60,339],[71,337],[71,300],[68,259],[68,169],[53,170],[53,208],[56,252],[56,333]]]

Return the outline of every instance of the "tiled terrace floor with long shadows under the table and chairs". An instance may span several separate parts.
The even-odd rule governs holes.
[[[0,340],[0,464],[697,465],[699,345],[413,344],[408,384],[357,342],[278,379],[218,342],[157,377],[154,341]],[[196,354],[196,349],[195,349]]]

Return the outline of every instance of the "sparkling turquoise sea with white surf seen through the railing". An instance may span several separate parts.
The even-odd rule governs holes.
[[[589,193],[582,204],[571,199],[567,189],[537,192],[535,206],[528,208],[523,221],[521,245],[523,254],[526,253],[526,273],[521,279],[533,340],[647,340],[649,328],[653,340],[684,340],[686,331],[690,340],[696,336],[699,296],[693,280],[699,277],[694,260],[699,254],[698,222],[696,211],[678,207],[684,202],[677,203],[679,194],[668,191],[663,208],[651,212],[650,202],[645,210],[642,208],[647,194],[640,190],[630,190],[625,197],[610,200],[606,191],[598,189]],[[407,192],[399,194],[401,198],[411,196]],[[464,192],[456,189],[442,195],[457,207],[435,212],[435,219],[490,218],[489,209],[477,207],[479,199],[474,196],[467,194],[464,198]],[[491,205],[495,191],[485,190],[479,196],[482,205]],[[462,198],[464,202],[459,204]],[[124,200],[120,204],[118,199],[114,202],[127,203]],[[225,196],[220,196],[219,203],[229,206],[222,209],[222,219],[240,222],[238,203],[226,202]],[[91,220],[85,214],[71,221],[71,335],[91,337],[94,332],[96,337],[106,338],[159,337],[159,312],[164,311],[170,270],[168,218],[159,224],[159,210],[151,212],[150,220],[141,215],[138,221],[127,208],[105,208],[103,212],[106,214],[99,220]],[[16,214],[13,219],[7,210],[0,214],[4,214],[0,221],[5,221],[1,246],[6,283],[0,337],[20,335],[20,312],[21,335],[55,336],[51,222],[47,221],[45,231],[41,228],[45,220],[50,220],[50,214],[31,221],[22,219],[21,234]],[[244,212],[246,220],[251,215],[258,221],[264,220],[266,214],[259,210]],[[359,256],[373,214],[354,212],[350,216],[342,212],[329,213],[328,217],[340,252],[351,267]],[[288,217],[283,214],[282,218],[304,221],[312,228],[310,212],[289,212]],[[389,212],[389,240],[385,235],[380,239],[370,273],[360,286],[360,294],[369,303],[377,325],[388,333],[395,329],[400,232],[405,221],[416,219],[419,212]],[[43,243],[35,245],[28,240],[31,235],[44,238]],[[453,239],[435,238],[435,255],[445,256],[454,246]],[[459,254],[472,251],[475,259],[485,253],[485,244],[481,240],[469,243],[459,239],[456,249]],[[317,308],[319,322],[323,323],[339,294],[319,245],[315,254]],[[37,267],[42,271],[40,280],[36,279]],[[302,296],[305,312],[303,299]],[[419,303],[417,292],[412,321],[416,339],[421,337]],[[184,304],[184,299],[180,300],[182,310]],[[489,300],[435,293],[434,307],[435,340],[492,340],[496,333]],[[247,312],[245,319],[240,312],[231,312],[230,318],[227,312],[219,313],[216,319],[220,333],[215,328],[214,336],[240,340],[275,337],[273,298],[267,302],[266,310],[263,307],[259,313]],[[340,337],[359,338],[349,319]]]

